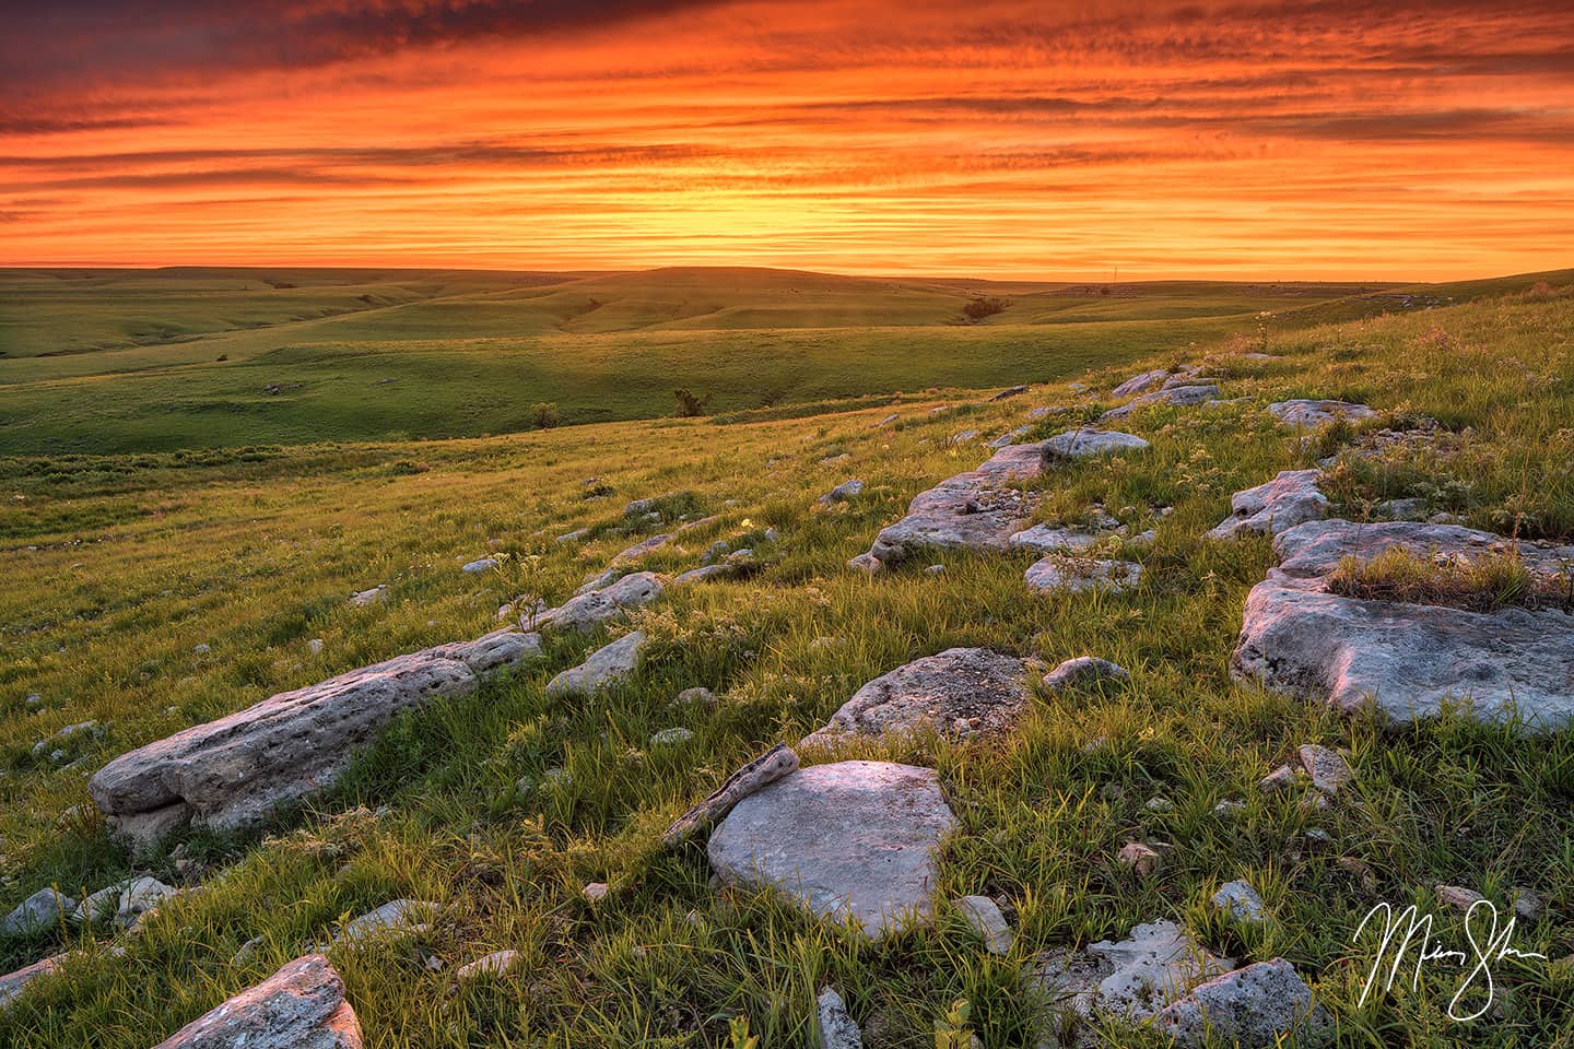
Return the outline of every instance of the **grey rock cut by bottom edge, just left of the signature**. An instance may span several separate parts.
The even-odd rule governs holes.
[[[1259,961],[1199,983],[1154,1018],[1177,1046],[1278,1046],[1286,1036],[1313,1040],[1333,1021],[1311,988],[1283,958]]]

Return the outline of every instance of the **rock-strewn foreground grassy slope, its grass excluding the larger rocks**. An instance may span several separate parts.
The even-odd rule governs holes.
[[[1480,525],[1522,516],[1533,533],[1574,536],[1574,300],[1354,322],[1288,337],[1275,351],[1283,360],[1228,365],[1231,392],[1254,403],[1349,396],[1473,428],[1447,469],[1344,475],[1341,491],[1366,500],[1434,491]],[[922,563],[877,580],[844,568],[913,492],[985,456],[948,447],[949,434],[988,436],[1044,403],[1077,398],[1050,387],[938,417],[908,406],[888,429],[870,426],[881,407],[748,426],[615,423],[439,444],[3,461],[0,909],[42,884],[79,895],[123,874],[126,859],[85,791],[105,760],[271,692],[475,635],[515,593],[560,599],[628,539],[579,549],[552,538],[615,522],[626,499],[691,489],[722,516],[682,549],[663,549],[656,566],[689,566],[718,536],[748,538],[770,565],[650,609],[644,626],[660,643],[614,697],[543,698],[545,679],[593,640],[563,643],[537,673],[401,723],[320,815],[266,841],[197,840],[198,865],[184,874],[154,863],[198,890],[124,939],[124,956],[99,950],[0,1013],[0,1044],[142,1049],[307,950],[340,917],[394,896],[447,904],[449,917],[417,942],[445,969],[504,947],[521,950],[526,969],[455,996],[447,972],[425,970],[414,947],[334,951],[376,1049],[711,1046],[726,1044],[737,1014],[765,1046],[803,1044],[825,980],[844,988],[875,1046],[933,1044],[932,1024],[955,999],[973,1003],[987,1046],[1028,1044],[1023,963],[1155,917],[1190,923],[1245,961],[1291,958],[1338,1016],[1341,1044],[1574,1038],[1574,975],[1539,963],[1495,966],[1506,1014],[1473,1025],[1445,1019],[1454,981],[1442,967],[1418,992],[1355,1003],[1369,950],[1349,937],[1377,900],[1417,900],[1440,914],[1442,936],[1462,942],[1454,915],[1429,896],[1439,882],[1498,903],[1530,885],[1547,896],[1549,917],[1522,928],[1517,945],[1554,958],[1574,950],[1574,736],[1519,741],[1445,723],[1385,738],[1228,679],[1240,604],[1269,552],[1199,536],[1231,491],[1316,455],[1261,410],[1141,415],[1129,428],[1152,439],[1151,455],[1045,480],[1045,514],[1102,500],[1135,528],[1157,525],[1157,546],[1138,555],[1147,571],[1135,594],[1033,598],[1022,585],[1026,558],[943,558],[940,577]],[[852,459],[822,464],[841,451]],[[586,499],[592,475],[615,494]],[[817,494],[852,475],[869,481],[864,499],[814,510]],[[1151,503],[1176,510],[1151,519]],[[781,530],[774,546],[760,541],[767,525]],[[458,565],[493,538],[516,555],[508,568],[461,576]],[[348,591],[379,582],[390,602],[345,604]],[[313,637],[326,642],[321,656],[307,650]],[[198,643],[211,653],[194,654]],[[962,818],[938,890],[1009,898],[1018,928],[1009,958],[984,955],[949,912],[933,931],[867,947],[768,898],[713,893],[697,845],[655,846],[660,829],[740,761],[796,739],[869,678],[949,645],[1051,662],[1096,653],[1135,673],[1130,690],[1040,698],[1004,744],[935,755]],[[722,697],[716,714],[669,706],[694,684]],[[44,697],[41,709],[25,706],[28,692]],[[105,736],[68,755],[83,760],[79,769],[33,756],[36,739],[90,717]],[[672,725],[693,728],[694,741],[650,750],[648,736]],[[1089,747],[1097,739],[1107,745]],[[1330,813],[1256,791],[1305,741],[1352,755],[1352,796]],[[848,752],[877,753],[921,756]],[[549,767],[571,780],[515,788]],[[1149,812],[1157,794],[1174,812]],[[1226,797],[1245,801],[1239,818],[1214,815]],[[1310,826],[1327,829],[1333,848],[1303,848]],[[1155,879],[1135,881],[1113,862],[1132,837],[1176,845]],[[1366,862],[1376,889],[1336,856]],[[1214,889],[1242,876],[1275,915],[1267,929],[1240,933],[1209,915]],[[609,881],[612,896],[589,907],[578,895],[587,881]],[[255,936],[264,947],[233,966]],[[55,937],[0,944],[0,970],[58,947]],[[1116,1044],[1143,1043],[1127,1033]]]

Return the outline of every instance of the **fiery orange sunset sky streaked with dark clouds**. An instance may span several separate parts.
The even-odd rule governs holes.
[[[1574,13],[0,0],[0,266],[1574,266]]]

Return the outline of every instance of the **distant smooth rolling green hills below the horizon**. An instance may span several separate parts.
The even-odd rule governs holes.
[[[1001,291],[1004,313],[954,324],[976,293]],[[1053,381],[1215,341],[1262,311],[1292,330],[1453,294],[1207,282],[1097,291],[746,269],[11,271],[0,274],[0,453],[480,436],[529,429],[538,401],[565,423],[660,417],[678,385],[735,412]],[[269,395],[272,384],[299,385]]]

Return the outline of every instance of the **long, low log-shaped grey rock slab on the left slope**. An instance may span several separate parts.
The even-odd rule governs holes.
[[[512,631],[395,656],[124,753],[88,791],[137,846],[186,821],[246,826],[332,783],[395,716],[538,656],[540,637]]]

